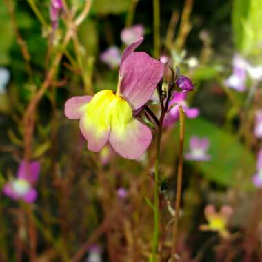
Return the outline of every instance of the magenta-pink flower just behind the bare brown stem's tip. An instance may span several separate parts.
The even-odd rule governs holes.
[[[186,103],[185,99],[187,97],[187,91],[182,92],[174,92],[173,98],[169,102],[169,108],[171,108],[168,114],[165,115],[165,119],[163,125],[168,128],[174,122],[179,119],[179,105],[182,105],[183,110],[185,111],[185,115],[188,118],[195,118],[199,115],[199,110],[197,108],[188,108],[188,104]]]

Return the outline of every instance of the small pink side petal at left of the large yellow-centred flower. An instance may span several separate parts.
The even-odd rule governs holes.
[[[68,99],[64,110],[66,117],[68,119],[80,119],[85,111],[85,106],[91,101],[91,99],[91,96],[71,97]]]

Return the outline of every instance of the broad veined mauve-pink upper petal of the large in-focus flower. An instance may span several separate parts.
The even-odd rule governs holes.
[[[164,65],[145,52],[130,54],[121,66],[121,94],[133,110],[144,105],[163,77]]]

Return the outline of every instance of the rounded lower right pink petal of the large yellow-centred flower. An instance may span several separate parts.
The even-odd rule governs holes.
[[[110,132],[109,141],[115,152],[127,159],[139,159],[150,145],[152,133],[143,123],[132,119],[123,134],[118,134],[117,128]]]

